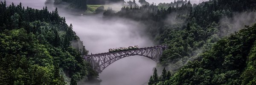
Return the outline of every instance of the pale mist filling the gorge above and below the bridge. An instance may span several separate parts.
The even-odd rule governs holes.
[[[1,0],[4,1],[4,0]],[[20,2],[26,8],[43,9],[46,0],[6,0],[7,5],[12,2],[17,6]],[[53,3],[47,4],[49,11],[55,10]],[[66,18],[68,25],[72,23],[73,31],[83,41],[89,54],[108,52],[109,48],[119,48],[139,45],[139,48],[153,46],[151,38],[143,32],[140,23],[125,20],[104,20],[102,15],[75,15],[63,8],[58,8],[58,14]],[[143,85],[153,74],[156,62],[146,57],[132,56],[120,59],[99,74],[101,85]],[[80,83],[81,84],[81,83]],[[82,85],[82,84],[81,84]]]

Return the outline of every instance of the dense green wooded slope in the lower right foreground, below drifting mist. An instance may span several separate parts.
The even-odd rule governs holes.
[[[212,49],[180,68],[169,79],[149,85],[255,85],[256,24],[216,42]],[[163,71],[162,74],[165,74]]]

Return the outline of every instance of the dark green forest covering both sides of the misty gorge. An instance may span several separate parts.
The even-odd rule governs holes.
[[[123,0],[109,0],[111,2]],[[86,9],[102,0],[55,0]],[[146,26],[157,44],[168,45],[148,85],[256,85],[256,22],[227,23],[239,14],[255,13],[255,0],[209,0],[192,4],[129,1],[103,18],[121,17]],[[237,28],[237,29],[236,29]],[[81,79],[100,82],[81,55],[88,54],[58,9],[48,11],[0,3],[0,85],[77,85]]]

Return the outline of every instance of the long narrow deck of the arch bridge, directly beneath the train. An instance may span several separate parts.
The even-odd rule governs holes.
[[[147,49],[147,48],[156,48],[156,47],[162,48],[162,47],[166,47],[166,46],[168,46],[168,45],[159,45],[159,46],[152,46],[152,47],[124,50],[124,51],[106,52],[106,53],[100,53],[100,54],[91,54],[91,55],[84,55],[84,56],[81,56],[81,57],[93,57],[93,56],[99,56],[99,55],[104,55],[104,54],[116,54],[116,53],[120,53],[120,52],[137,51],[137,50]]]

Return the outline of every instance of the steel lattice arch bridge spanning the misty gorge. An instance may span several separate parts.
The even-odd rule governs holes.
[[[101,73],[105,68],[111,65],[113,62],[134,55],[139,55],[143,57],[148,57],[156,62],[158,62],[159,58],[162,57],[162,53],[167,49],[167,45],[146,47],[146,48],[138,48],[131,49],[125,51],[116,51],[116,52],[107,52],[101,54],[91,54],[81,56],[84,60],[90,62],[93,66],[93,69],[99,73]]]

